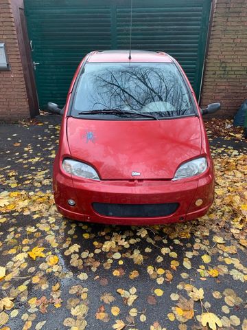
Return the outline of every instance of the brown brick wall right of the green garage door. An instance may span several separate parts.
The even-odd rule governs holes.
[[[220,101],[213,117],[231,118],[247,99],[247,0],[216,0],[201,106]]]

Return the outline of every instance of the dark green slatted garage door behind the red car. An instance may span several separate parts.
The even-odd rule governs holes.
[[[132,49],[174,56],[200,94],[211,0],[133,0]],[[62,107],[82,57],[128,49],[130,0],[25,0],[40,109]]]

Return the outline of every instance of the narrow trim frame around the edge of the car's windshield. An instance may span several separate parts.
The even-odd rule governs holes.
[[[88,62],[87,59],[84,61],[84,63],[82,64],[82,67],[80,68],[80,72],[78,73],[78,76],[76,77],[75,79],[75,83],[73,85],[73,89],[71,91],[71,98],[69,100],[69,109],[68,109],[68,112],[67,112],[67,117],[73,117],[73,118],[79,118],[78,116],[74,115],[72,113],[73,111],[73,104],[74,104],[74,101],[75,101],[75,94],[76,94],[76,90],[78,88],[78,83],[80,82],[80,79],[82,77],[82,74],[84,74],[84,70],[85,70],[85,65],[97,65],[97,64],[106,64],[108,63],[109,65],[110,64],[114,64],[114,65],[117,65],[117,64],[155,64],[155,65],[158,65],[158,64],[163,64],[163,65],[174,65],[174,67],[176,67],[177,69],[177,72],[180,76],[180,79],[183,81],[183,85],[185,87],[185,89],[187,90],[187,96],[189,98],[189,103],[191,104],[191,110],[193,110],[193,113],[189,113],[189,114],[186,114],[186,115],[178,115],[178,116],[168,116],[168,117],[159,117],[158,116],[158,119],[159,120],[167,120],[167,119],[178,119],[178,118],[186,118],[186,117],[193,117],[193,116],[199,116],[198,115],[198,111],[197,111],[197,107],[196,107],[196,103],[195,103],[195,100],[193,98],[193,94],[191,92],[191,89],[189,88],[189,85],[187,83],[187,80],[185,79],[185,75],[183,74],[183,72],[181,71],[178,63],[176,63],[176,61],[173,61],[173,62],[155,62],[155,63],[152,63],[152,62],[133,62],[133,63],[127,63],[127,62],[101,62],[101,63],[97,63],[97,62]],[[91,119],[96,119],[97,116],[94,115],[94,118],[91,118]],[[81,119],[89,119],[89,118],[84,118],[82,116],[80,116]],[[100,118],[102,120],[102,118]],[[128,120],[128,118],[125,118],[126,120]],[[114,119],[113,119],[114,120]],[[115,119],[115,120],[119,120],[118,119]],[[145,119],[145,118],[130,118],[130,120],[149,120],[148,118]]]

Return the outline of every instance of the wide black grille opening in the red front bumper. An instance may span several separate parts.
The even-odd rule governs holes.
[[[111,204],[93,203],[93,209],[107,217],[165,217],[174,213],[178,203],[164,204]]]

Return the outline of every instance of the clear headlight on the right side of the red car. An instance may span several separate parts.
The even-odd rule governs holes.
[[[205,157],[193,159],[178,167],[173,180],[193,177],[205,172],[205,170],[207,170],[207,159]]]

